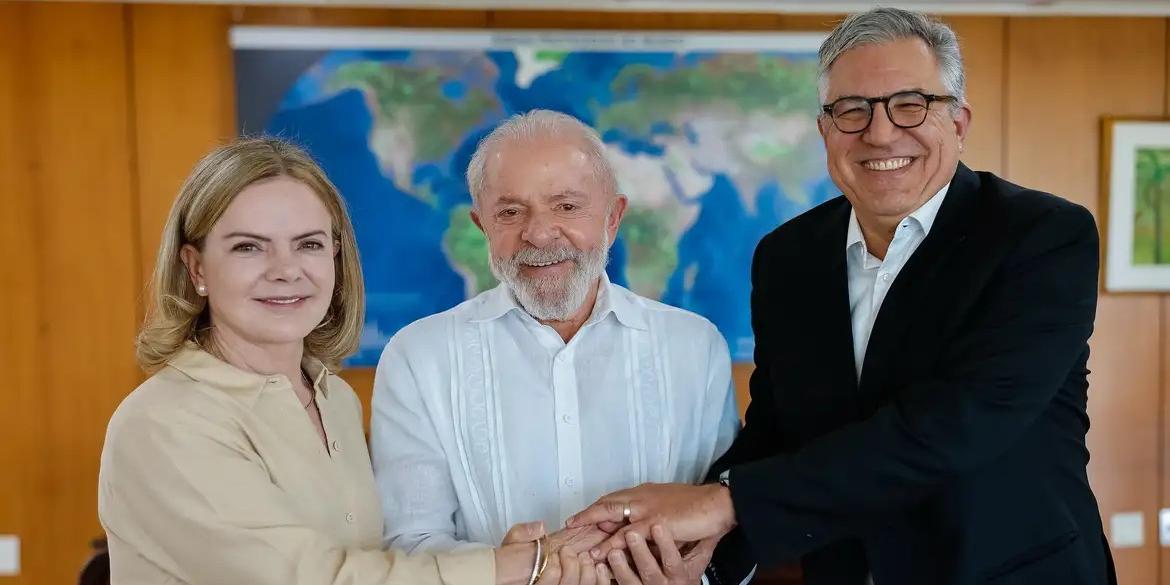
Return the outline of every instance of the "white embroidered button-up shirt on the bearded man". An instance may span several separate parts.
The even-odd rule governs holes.
[[[644,482],[695,483],[739,428],[727,343],[707,319],[603,277],[569,343],[500,285],[386,345],[371,455],[385,544],[496,545]]]

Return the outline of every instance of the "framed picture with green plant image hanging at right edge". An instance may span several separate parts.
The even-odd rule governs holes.
[[[1170,119],[1106,118],[1101,132],[1104,288],[1170,290]]]

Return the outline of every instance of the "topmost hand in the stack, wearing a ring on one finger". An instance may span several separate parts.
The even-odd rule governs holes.
[[[627,546],[627,535],[636,534],[651,539],[651,526],[661,524],[680,542],[716,541],[735,528],[735,507],[731,493],[717,483],[687,486],[681,483],[645,483],[636,488],[615,491],[584,511],[569,518],[569,528],[589,525],[615,526],[625,521],[629,508],[629,524],[619,529],[599,548],[593,558],[601,560],[611,550]]]

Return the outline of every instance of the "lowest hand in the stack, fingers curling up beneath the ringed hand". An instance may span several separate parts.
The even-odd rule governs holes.
[[[654,525],[651,536],[658,546],[658,558],[636,532],[626,535],[626,544],[629,546],[629,556],[634,559],[636,573],[631,569],[625,553],[619,550],[610,551],[606,558],[618,585],[696,585],[711,562],[715,545],[720,542],[718,537],[700,541],[683,556],[666,526]]]

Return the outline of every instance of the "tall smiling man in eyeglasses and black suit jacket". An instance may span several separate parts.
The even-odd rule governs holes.
[[[598,555],[656,525],[727,535],[717,585],[797,558],[807,585],[1116,583],[1086,473],[1093,216],[959,161],[971,109],[938,21],[849,16],[819,81],[844,197],[756,250],[751,405],[718,481],[570,524],[628,521]]]

